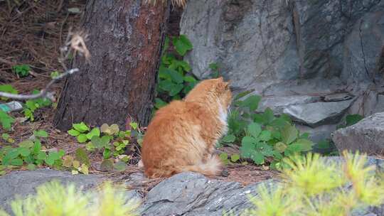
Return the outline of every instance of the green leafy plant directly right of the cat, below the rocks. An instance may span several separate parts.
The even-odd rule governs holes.
[[[309,134],[300,134],[291,119],[282,114],[275,117],[272,109],[256,113],[261,97],[243,92],[234,98],[234,109],[228,117],[228,134],[220,140],[223,144],[240,144],[242,158],[256,164],[265,164],[269,158],[272,168],[281,168],[284,156],[311,150]]]

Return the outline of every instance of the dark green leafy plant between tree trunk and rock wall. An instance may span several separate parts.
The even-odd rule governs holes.
[[[175,51],[170,51],[170,41]],[[172,99],[181,99],[198,82],[193,75],[189,75],[191,66],[184,60],[181,60],[186,53],[193,48],[191,41],[186,36],[181,35],[172,39],[166,38],[164,43],[164,52],[161,56],[159,67],[158,83],[155,98],[156,109],[164,107]]]

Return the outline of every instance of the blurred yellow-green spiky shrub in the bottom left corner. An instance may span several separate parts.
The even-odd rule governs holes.
[[[15,216],[134,216],[139,202],[127,200],[124,188],[105,183],[99,192],[85,193],[74,184],[52,181],[38,186],[36,195],[11,202]],[[0,216],[9,216],[0,210]]]

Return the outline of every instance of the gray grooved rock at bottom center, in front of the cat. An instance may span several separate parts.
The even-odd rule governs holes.
[[[267,185],[272,185],[268,181]],[[201,215],[221,216],[232,210],[236,215],[252,207],[247,194],[255,195],[257,184],[210,180],[198,173],[180,173],[149,191],[142,216]]]

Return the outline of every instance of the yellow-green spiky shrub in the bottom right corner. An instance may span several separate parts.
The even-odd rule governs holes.
[[[243,215],[341,216],[382,205],[384,175],[375,175],[374,166],[366,166],[366,155],[344,152],[343,156],[343,164],[312,153],[284,158],[289,168],[282,171],[282,182],[274,189],[261,185],[259,196],[249,196],[255,208]]]

